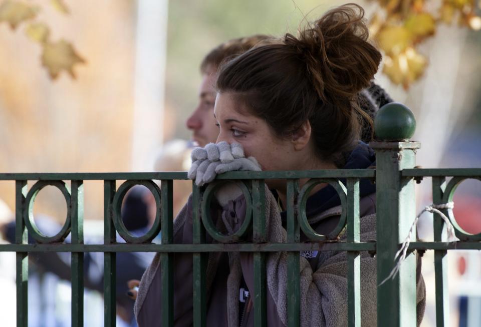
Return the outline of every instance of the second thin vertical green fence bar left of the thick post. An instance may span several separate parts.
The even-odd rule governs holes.
[[[300,232],[297,221],[297,199],[299,196],[299,180],[287,181],[287,242],[299,243]],[[305,208],[303,208],[305,209]],[[297,327],[301,324],[301,271],[300,253],[292,251],[287,253],[287,325]]]

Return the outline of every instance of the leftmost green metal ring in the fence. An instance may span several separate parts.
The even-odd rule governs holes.
[[[34,202],[37,194],[46,186],[55,186],[64,195],[65,202],[67,202],[67,218],[62,226],[62,229],[54,236],[47,236],[40,231],[37,227],[34,219]],[[70,229],[72,228],[71,221],[71,210],[70,210],[70,189],[69,186],[64,181],[38,181],[32,186],[27,193],[26,197],[27,210],[24,212],[24,221],[29,235],[32,236],[39,243],[56,243],[63,242],[64,239],[69,235]]]

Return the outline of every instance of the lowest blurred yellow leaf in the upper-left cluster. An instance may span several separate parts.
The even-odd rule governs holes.
[[[42,65],[47,68],[52,79],[56,79],[62,70],[67,71],[75,79],[73,66],[79,63],[85,63],[85,61],[67,41],[61,40],[43,45]]]

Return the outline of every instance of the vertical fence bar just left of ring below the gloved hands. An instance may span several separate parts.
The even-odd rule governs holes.
[[[205,228],[200,219],[200,189],[192,181],[192,233],[193,243],[202,244],[205,242]],[[206,326],[206,284],[205,271],[207,269],[206,253],[194,252],[193,263],[193,304],[194,304],[194,327]]]

